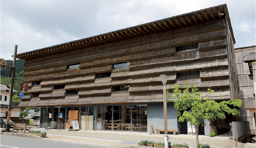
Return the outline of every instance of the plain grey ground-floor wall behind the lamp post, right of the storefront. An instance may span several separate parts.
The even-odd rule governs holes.
[[[150,124],[153,124],[153,133],[157,133],[156,128],[164,129],[164,119],[163,119],[163,103],[153,103],[147,104],[147,114],[148,114],[148,133],[150,132]],[[167,128],[168,129],[179,129],[176,109],[173,103],[167,104]],[[180,133],[180,129],[179,129]],[[178,134],[179,134],[178,133]],[[173,134],[170,132],[168,134]]]

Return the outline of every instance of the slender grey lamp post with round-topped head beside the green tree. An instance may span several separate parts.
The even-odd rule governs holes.
[[[163,82],[163,118],[164,118],[164,147],[168,148],[168,133],[167,133],[167,102],[166,102],[166,88],[165,84],[168,79],[168,76],[161,74],[160,79]]]

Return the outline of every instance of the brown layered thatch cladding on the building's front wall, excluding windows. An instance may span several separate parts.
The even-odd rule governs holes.
[[[176,46],[194,43],[199,43],[198,49],[175,53]],[[223,91],[219,90],[211,99],[228,99],[230,94],[226,94],[226,89],[230,84],[226,43],[225,20],[216,20],[92,50],[82,49],[65,56],[28,61],[24,64],[24,79],[42,80],[44,87],[66,84],[59,93],[49,92],[50,100],[50,94],[42,94],[38,106],[161,102],[163,84],[160,74],[169,76],[166,87],[170,91],[175,84],[180,84],[181,88],[189,82],[203,89],[209,86],[221,88]],[[95,80],[95,74],[111,71],[111,64],[123,62],[130,62],[129,68],[113,70],[111,77]],[[66,70],[66,65],[70,64],[80,64],[80,67]],[[176,81],[177,72],[196,70],[201,71],[201,78]],[[129,91],[111,93],[111,86],[117,85],[130,85]],[[80,90],[76,98],[63,96],[66,90],[72,89]],[[221,93],[223,95],[217,95]]]

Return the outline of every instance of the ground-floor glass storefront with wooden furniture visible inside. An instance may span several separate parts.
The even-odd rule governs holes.
[[[45,107],[41,113],[45,129],[68,129],[77,120],[80,130],[147,132],[147,104]]]

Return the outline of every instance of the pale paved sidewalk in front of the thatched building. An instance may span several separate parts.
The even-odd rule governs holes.
[[[39,128],[34,128],[39,129]],[[111,132],[111,131],[68,131],[56,129],[40,129],[47,131],[48,140],[66,141],[73,143],[81,143],[86,145],[99,145],[105,147],[121,148],[128,145],[138,145],[141,139],[147,138],[153,141],[163,141],[164,135],[148,134],[148,133],[131,133],[131,132]],[[190,148],[196,147],[196,137],[193,135],[168,135],[173,143],[186,142]],[[199,135],[199,142],[202,144],[210,144],[211,148],[230,148],[235,147],[233,140],[228,139],[229,133],[215,137]],[[242,148],[244,144],[238,143],[238,147]]]

